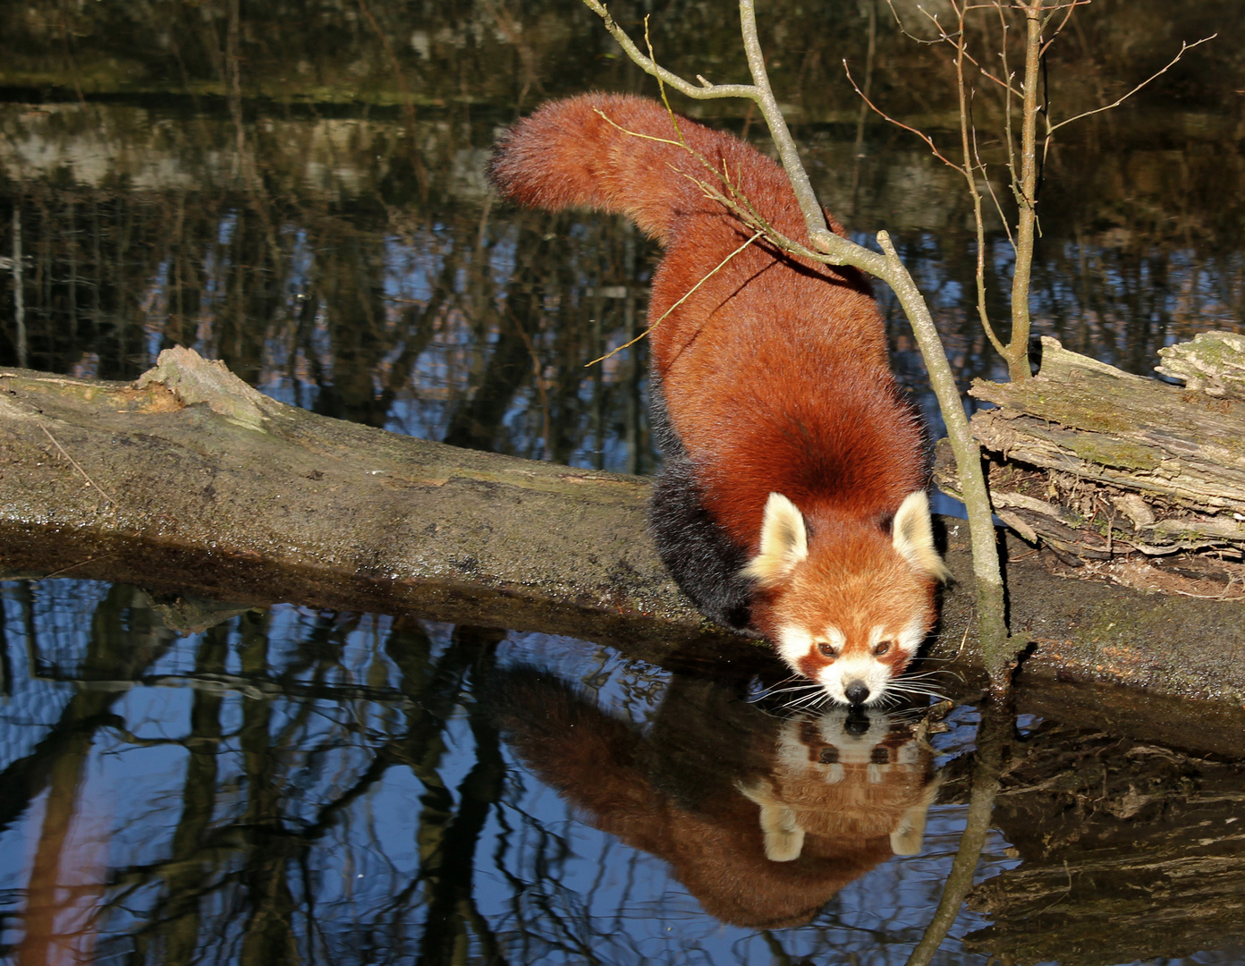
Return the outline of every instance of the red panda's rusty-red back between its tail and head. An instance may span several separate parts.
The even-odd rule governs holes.
[[[700,237],[732,232],[718,220]],[[675,246],[662,263],[654,315],[705,271],[703,254],[690,249]],[[705,505],[741,545],[754,546],[771,493],[813,515],[829,504],[837,514],[874,517],[924,485],[921,428],[895,387],[881,316],[859,280],[749,248],[652,339]]]

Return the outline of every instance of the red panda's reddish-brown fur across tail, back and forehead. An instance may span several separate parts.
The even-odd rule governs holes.
[[[680,137],[691,151],[651,139]],[[492,173],[518,202],[622,212],[661,242],[650,321],[700,284],[652,332],[654,368],[703,507],[735,544],[757,553],[771,493],[802,510],[809,559],[798,578],[801,610],[823,625],[825,615],[840,620],[857,598],[876,598],[879,581],[899,589],[896,614],[930,610],[934,581],[914,578],[886,530],[904,497],[925,485],[924,439],[891,377],[867,281],[759,239],[711,275],[752,232],[706,197],[697,182],[725,188],[692,152],[725,171],[774,228],[809,244],[774,162],[686,118],[676,131],[655,101],[586,95],[548,103],[503,139]],[[752,622],[769,636],[787,616],[773,610],[787,590],[753,600]]]

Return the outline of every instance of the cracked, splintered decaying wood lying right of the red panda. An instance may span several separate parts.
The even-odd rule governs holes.
[[[971,395],[997,407],[975,413],[972,429],[990,459],[998,517],[1025,539],[1079,560],[1182,550],[1240,560],[1245,400],[1235,395],[1233,345],[1165,350],[1165,371],[1195,378],[1198,388],[1122,372],[1050,337],[1040,375],[974,383]],[[935,477],[955,492],[945,457]],[[1224,590],[1245,599],[1245,569],[1228,573]]]

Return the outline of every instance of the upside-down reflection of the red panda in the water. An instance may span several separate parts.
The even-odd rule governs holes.
[[[675,675],[645,734],[533,668],[483,693],[543,782],[738,926],[807,922],[879,863],[920,851],[937,792],[929,747],[876,713],[863,728],[843,708],[782,721]]]

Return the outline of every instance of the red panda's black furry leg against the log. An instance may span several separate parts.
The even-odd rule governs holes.
[[[696,609],[717,624],[749,631],[752,581],[740,576],[747,548],[736,545],[701,502],[691,457],[666,413],[656,373],[650,378],[651,426],[662,466],[649,504],[649,529],[661,561]]]

